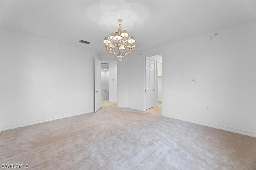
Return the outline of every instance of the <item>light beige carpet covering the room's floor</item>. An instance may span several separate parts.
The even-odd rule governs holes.
[[[116,103],[0,137],[1,164],[32,170],[256,169],[256,138]]]

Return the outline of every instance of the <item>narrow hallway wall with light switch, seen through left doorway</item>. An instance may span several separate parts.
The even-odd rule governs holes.
[[[109,61],[109,100],[112,102],[117,102],[117,81],[117,62]]]

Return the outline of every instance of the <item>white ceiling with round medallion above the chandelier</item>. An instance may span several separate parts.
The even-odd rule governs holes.
[[[253,20],[256,1],[1,0],[1,27],[92,49],[99,55],[108,54],[102,40],[110,30],[117,31],[118,18],[136,39],[136,51],[142,51]],[[90,44],[79,43],[81,39]]]

